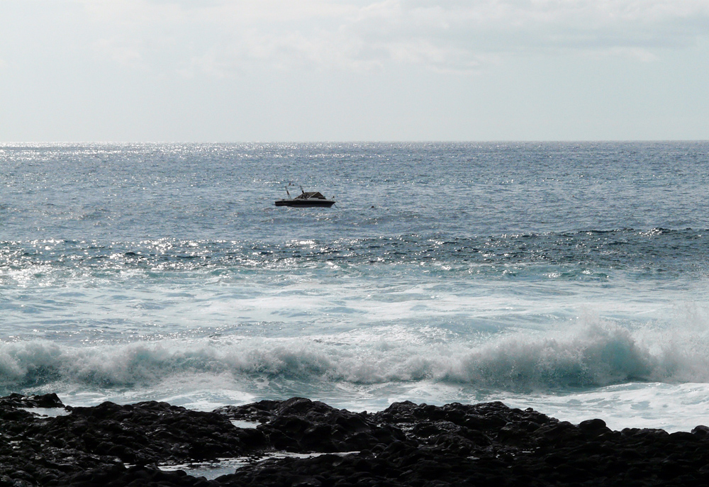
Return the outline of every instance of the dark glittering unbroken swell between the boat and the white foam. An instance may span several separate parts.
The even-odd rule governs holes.
[[[574,233],[504,234],[482,237],[401,235],[284,243],[144,240],[85,242],[36,240],[0,242],[0,273],[24,267],[77,269],[81,272],[124,268],[156,271],[259,267],[289,269],[299,264],[345,265],[399,262],[453,264],[590,264],[613,269],[704,270],[709,252],[707,230],[584,230]],[[0,274],[0,277],[1,277]]]

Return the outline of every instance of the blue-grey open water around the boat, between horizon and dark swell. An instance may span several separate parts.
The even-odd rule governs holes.
[[[1,215],[8,240],[702,229],[708,150],[705,142],[4,146]],[[289,181],[335,196],[337,208],[275,208]]]

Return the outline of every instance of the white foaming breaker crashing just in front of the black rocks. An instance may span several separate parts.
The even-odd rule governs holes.
[[[640,333],[597,323],[557,337],[510,334],[481,345],[404,339],[344,343],[345,337],[220,337],[88,347],[14,342],[0,345],[0,385],[6,391],[50,384],[58,389],[132,387],[174,376],[226,374],[244,384],[264,379],[355,385],[433,381],[524,392],[709,381],[705,332],[656,332],[647,341]]]

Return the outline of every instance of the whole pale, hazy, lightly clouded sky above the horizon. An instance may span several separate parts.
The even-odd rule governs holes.
[[[709,0],[0,0],[0,25],[0,142],[709,139]]]

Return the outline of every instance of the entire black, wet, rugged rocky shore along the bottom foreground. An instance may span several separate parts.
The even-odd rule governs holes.
[[[0,486],[709,486],[708,427],[612,431],[503,403],[350,413],[292,398],[206,413],[12,394],[0,435]],[[318,455],[262,460],[276,451]],[[234,457],[251,461],[211,480],[158,467]]]

